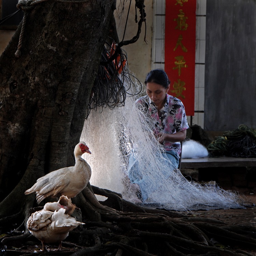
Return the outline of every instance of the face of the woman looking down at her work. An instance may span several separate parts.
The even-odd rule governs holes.
[[[165,88],[160,84],[156,83],[147,83],[146,84],[146,93],[150,99],[159,107],[163,106],[165,102],[166,93],[169,90],[170,85]]]

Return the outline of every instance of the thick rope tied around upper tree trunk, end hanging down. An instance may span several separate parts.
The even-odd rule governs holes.
[[[19,0],[17,3],[17,8],[21,9],[24,11],[24,17],[22,20],[22,29],[20,31],[19,35],[19,43],[18,43],[18,48],[17,51],[15,52],[15,57],[19,58],[20,57],[20,49],[22,47],[22,42],[23,42],[23,37],[24,37],[24,31],[25,31],[25,26],[27,22],[27,16],[28,16],[28,11],[31,11],[36,4],[46,2],[48,0]],[[56,2],[65,2],[65,3],[84,3],[88,2],[88,0],[53,0]]]

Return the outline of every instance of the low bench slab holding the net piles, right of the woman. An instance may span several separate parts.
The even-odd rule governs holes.
[[[181,169],[211,168],[211,167],[253,167],[256,166],[256,158],[243,157],[204,157],[182,158]]]

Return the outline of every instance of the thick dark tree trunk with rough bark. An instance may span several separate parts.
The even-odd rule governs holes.
[[[114,0],[35,4],[20,57],[21,24],[1,55],[0,217],[23,207],[40,176],[73,165],[114,8]]]

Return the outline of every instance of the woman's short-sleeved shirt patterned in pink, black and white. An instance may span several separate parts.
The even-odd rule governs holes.
[[[155,130],[163,133],[176,133],[189,128],[185,108],[181,100],[166,94],[166,102],[160,115],[158,115],[156,105],[152,102],[150,97],[143,96],[136,101],[136,105],[142,107],[142,111],[149,114],[155,124]],[[181,153],[180,142],[164,141],[163,148],[166,151],[174,151],[178,154]]]

